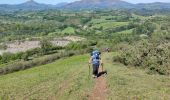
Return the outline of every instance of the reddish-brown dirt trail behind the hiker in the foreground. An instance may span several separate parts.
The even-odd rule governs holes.
[[[95,79],[95,86],[93,92],[89,97],[89,100],[106,100],[106,98],[107,98],[106,79],[105,75],[102,75]]]

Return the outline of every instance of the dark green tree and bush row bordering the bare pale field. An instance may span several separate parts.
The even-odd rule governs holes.
[[[30,60],[30,58],[34,58],[36,56],[42,56],[42,55],[49,55],[57,53],[58,50],[63,49],[63,47],[60,46],[53,46],[51,42],[48,41],[42,41],[41,42],[41,48],[35,48],[28,50],[26,52],[20,52],[20,53],[4,53],[2,56],[0,56],[0,63],[8,63],[10,61],[20,60],[23,59],[25,61]]]

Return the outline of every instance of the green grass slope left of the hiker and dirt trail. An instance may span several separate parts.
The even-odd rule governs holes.
[[[86,99],[93,81],[88,79],[88,56],[0,76],[0,99]]]

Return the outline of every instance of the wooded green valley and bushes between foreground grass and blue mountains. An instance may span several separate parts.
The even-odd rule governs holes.
[[[93,48],[103,51],[109,47],[114,51],[127,48],[120,51],[121,56],[117,58],[125,65],[141,66],[159,74],[168,74],[170,17],[159,12],[152,15],[143,13],[128,10],[0,12],[1,50],[7,48],[6,43],[13,41],[22,43],[35,39],[40,41],[41,45],[26,52],[3,53],[0,55],[0,66],[20,61],[34,61],[35,58],[60,52],[75,50],[88,53]],[[49,42],[56,37],[68,35],[84,37],[86,40],[72,42],[65,47],[54,46]],[[149,45],[147,48],[143,44],[143,39],[144,44]],[[118,49],[117,46],[120,47],[121,44],[124,47]],[[158,46],[165,46],[163,48],[165,54],[155,53]],[[138,57],[148,51],[151,51],[149,54],[151,56]],[[160,59],[163,64],[158,63]]]

